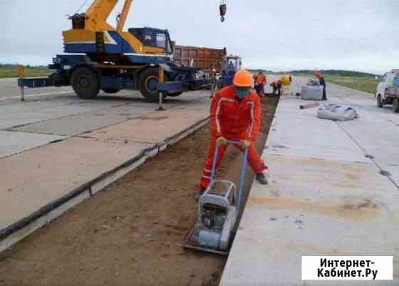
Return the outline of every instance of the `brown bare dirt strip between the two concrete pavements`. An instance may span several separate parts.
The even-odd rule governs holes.
[[[276,103],[263,99],[259,152]],[[205,126],[4,252],[0,285],[218,285],[226,257],[177,246],[195,222],[208,141]],[[237,182],[240,158],[229,148],[218,175]]]

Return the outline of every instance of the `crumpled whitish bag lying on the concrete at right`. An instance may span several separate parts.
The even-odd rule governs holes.
[[[317,113],[318,118],[333,121],[348,121],[358,118],[358,113],[351,106],[337,103],[321,103]]]

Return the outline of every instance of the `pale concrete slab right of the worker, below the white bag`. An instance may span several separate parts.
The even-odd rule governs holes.
[[[333,121],[316,118],[317,108],[300,110],[304,101],[281,102],[266,144],[269,154],[367,162],[364,153]],[[289,113],[289,116],[286,114]],[[315,126],[315,128],[309,128]],[[317,127],[316,127],[317,126]]]

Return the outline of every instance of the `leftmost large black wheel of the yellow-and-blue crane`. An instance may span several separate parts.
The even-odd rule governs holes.
[[[71,86],[80,98],[95,98],[100,92],[100,79],[91,68],[76,68],[71,76]]]

